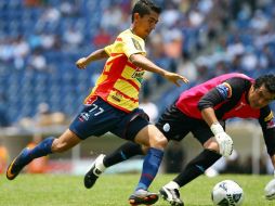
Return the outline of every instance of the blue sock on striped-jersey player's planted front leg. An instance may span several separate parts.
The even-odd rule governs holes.
[[[143,162],[142,176],[135,191],[148,189],[158,172],[162,157],[163,151],[153,147],[148,150]]]

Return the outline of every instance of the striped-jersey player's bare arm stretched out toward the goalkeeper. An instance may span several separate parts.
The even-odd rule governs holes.
[[[156,64],[154,64],[152,61],[149,61],[147,57],[145,57],[144,55],[140,54],[140,53],[134,53],[132,54],[129,60],[138,67],[143,68],[145,70],[152,72],[152,73],[156,73],[161,75],[162,77],[165,77],[166,79],[168,79],[169,81],[173,82],[174,85],[176,85],[178,87],[180,87],[181,85],[178,82],[179,80],[182,80],[184,82],[188,82],[188,79],[178,75],[175,73],[170,73],[168,70],[165,70],[162,68],[160,68],[159,66],[157,66]]]

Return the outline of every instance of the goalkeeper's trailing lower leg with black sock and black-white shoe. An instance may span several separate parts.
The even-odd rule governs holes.
[[[135,155],[143,155],[140,144],[127,142],[108,155],[101,154],[96,157],[91,169],[84,176],[84,186],[90,189],[107,167],[127,160]]]

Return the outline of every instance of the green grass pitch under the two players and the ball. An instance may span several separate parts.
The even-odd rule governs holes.
[[[158,175],[152,192],[170,181],[174,175]],[[0,176],[0,205],[2,206],[123,206],[132,193],[140,175],[103,175],[91,190],[83,186],[80,176],[19,175],[9,181]],[[238,182],[245,191],[244,206],[275,205],[263,195],[264,185],[272,176],[218,176],[199,177],[181,189],[185,206],[210,206],[211,190],[221,180]],[[169,204],[159,199],[156,206]]]

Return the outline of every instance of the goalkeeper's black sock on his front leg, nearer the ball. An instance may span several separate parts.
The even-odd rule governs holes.
[[[204,150],[173,181],[180,186],[185,185],[204,173],[205,170],[213,165],[220,157],[221,155],[214,151]]]

